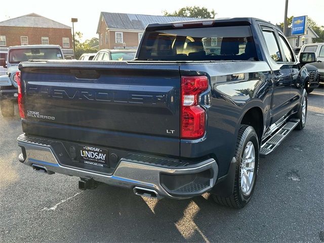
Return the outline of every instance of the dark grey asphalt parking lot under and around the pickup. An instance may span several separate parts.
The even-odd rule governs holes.
[[[306,128],[260,159],[250,204],[216,205],[209,194],[147,199],[19,163],[18,116],[0,115],[0,242],[324,242],[324,90],[308,97]],[[17,113],[17,112],[16,112]]]

